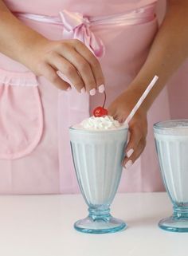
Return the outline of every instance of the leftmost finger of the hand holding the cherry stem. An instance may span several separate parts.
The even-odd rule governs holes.
[[[48,64],[45,64],[41,67],[42,75],[48,79],[53,85],[56,85],[58,89],[69,91],[71,89],[70,85],[63,81],[56,73],[56,70],[53,69]]]

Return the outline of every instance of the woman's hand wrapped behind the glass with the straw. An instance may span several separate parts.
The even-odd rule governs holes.
[[[109,115],[119,120],[119,122],[123,122],[130,114],[132,108],[134,108],[139,97],[140,93],[130,87],[110,104],[108,108]],[[127,144],[126,156],[123,160],[123,166],[126,168],[131,167],[132,163],[139,158],[146,145],[147,110],[142,105],[129,123],[129,132],[130,140]]]

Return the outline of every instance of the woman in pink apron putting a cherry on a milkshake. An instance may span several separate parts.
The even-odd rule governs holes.
[[[120,191],[163,189],[152,124],[170,118],[167,91],[160,92],[188,55],[187,1],[169,0],[159,30],[155,0],[4,2],[0,192],[78,191],[69,126],[103,102],[104,89],[109,114],[125,120],[155,75],[158,83],[131,120],[124,166],[139,158],[146,136],[147,147],[123,173]]]

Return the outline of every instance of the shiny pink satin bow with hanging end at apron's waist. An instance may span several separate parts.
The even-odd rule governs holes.
[[[60,12],[64,24],[64,34],[66,38],[78,39],[88,46],[88,49],[96,57],[104,56],[104,44],[100,38],[96,37],[90,30],[91,22],[89,18],[80,13],[72,13],[68,10]]]

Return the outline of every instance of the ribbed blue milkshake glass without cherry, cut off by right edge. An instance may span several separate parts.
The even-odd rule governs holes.
[[[163,230],[188,232],[188,120],[154,124],[155,145],[173,215],[159,222]]]

